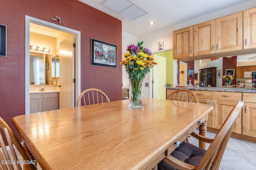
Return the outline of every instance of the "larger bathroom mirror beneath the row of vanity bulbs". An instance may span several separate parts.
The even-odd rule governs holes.
[[[30,84],[45,84],[45,54],[30,53]]]

